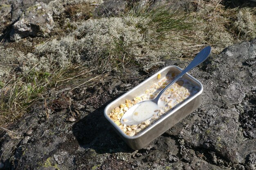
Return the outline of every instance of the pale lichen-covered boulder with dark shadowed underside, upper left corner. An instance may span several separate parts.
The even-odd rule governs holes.
[[[16,41],[27,36],[45,36],[54,27],[53,10],[45,3],[39,2],[26,9],[10,33],[11,40]]]

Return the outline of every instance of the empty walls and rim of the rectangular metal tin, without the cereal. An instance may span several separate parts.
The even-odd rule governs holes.
[[[160,118],[157,122],[150,125],[148,128],[146,128],[143,132],[139,133],[135,136],[128,136],[126,135],[118,126],[115,124],[110,117],[108,117],[108,114],[116,107],[118,107],[121,103],[125,103],[126,99],[132,100],[134,97],[140,95],[143,93],[146,89],[148,89],[155,81],[157,81],[157,75],[161,73],[162,76],[165,76],[169,71],[181,73],[182,69],[177,66],[168,66],[163,68],[162,70],[158,71],[148,79],[146,79],[144,82],[140,83],[139,85],[132,88],[130,91],[125,93],[124,95],[120,96],[119,98],[115,99],[113,102],[108,104],[104,110],[104,115],[106,119],[110,122],[114,130],[118,133],[118,135],[130,146],[130,148],[134,150],[139,150],[144,148],[147,144],[149,144],[151,141],[156,139],[158,136],[162,135],[164,132],[166,132],[168,129],[173,127],[175,124],[177,124],[179,121],[184,119],[187,115],[192,113],[194,110],[200,107],[202,104],[202,91],[203,86],[202,84],[186,73],[183,77],[191,81],[193,84],[200,87],[200,91],[196,93],[195,95],[191,96],[188,99],[185,99],[181,104],[178,104],[175,106],[175,108],[171,111],[169,111],[166,115],[164,115],[162,118]],[[161,77],[162,77],[161,76]]]

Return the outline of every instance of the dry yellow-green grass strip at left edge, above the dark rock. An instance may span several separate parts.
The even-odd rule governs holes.
[[[52,72],[22,71],[0,88],[0,127],[17,121],[31,110],[36,102],[44,102],[53,91],[65,88],[73,90],[82,85],[94,84],[100,76],[94,76],[88,67],[67,66],[53,69]],[[46,115],[47,116],[47,115]],[[48,115],[49,116],[49,115]]]

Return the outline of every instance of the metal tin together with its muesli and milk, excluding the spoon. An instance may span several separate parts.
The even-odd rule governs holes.
[[[130,107],[154,99],[181,71],[177,66],[163,68],[105,108],[105,117],[131,148],[144,147],[201,105],[202,84],[186,74],[164,92],[158,102],[160,109],[155,110],[153,117],[137,125],[120,123]]]

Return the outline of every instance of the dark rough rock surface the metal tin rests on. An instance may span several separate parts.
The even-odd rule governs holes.
[[[256,39],[210,56],[190,74],[204,86],[202,106],[141,150],[130,149],[103,116],[106,104],[139,83],[130,79],[100,93],[63,91],[49,118],[44,104],[35,106],[13,125],[16,134],[1,135],[0,168],[255,170]]]

